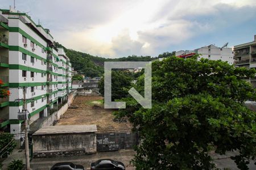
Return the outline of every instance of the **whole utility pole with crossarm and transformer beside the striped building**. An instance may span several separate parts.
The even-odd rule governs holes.
[[[25,126],[25,154],[26,154],[26,169],[30,170],[30,152],[28,148],[28,111],[27,111],[26,87],[23,87],[23,99],[16,99],[15,101],[23,101],[22,112],[18,113],[18,120],[24,120]]]

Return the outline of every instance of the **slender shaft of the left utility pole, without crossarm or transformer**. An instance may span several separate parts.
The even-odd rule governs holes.
[[[23,111],[25,112],[25,154],[26,154],[26,168],[30,170],[30,151],[28,148],[28,134],[27,134],[27,121],[28,121],[28,114],[27,114],[27,102],[26,102],[26,87],[23,87]]]

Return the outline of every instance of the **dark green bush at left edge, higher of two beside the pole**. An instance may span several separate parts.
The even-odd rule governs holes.
[[[6,157],[10,155],[14,148],[16,147],[16,143],[14,140],[14,135],[10,133],[0,133],[0,154],[2,157]]]

